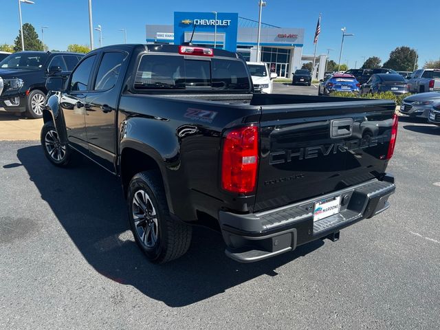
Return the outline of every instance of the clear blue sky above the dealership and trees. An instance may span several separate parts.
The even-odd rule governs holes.
[[[34,25],[39,35],[47,25],[45,43],[50,49],[65,50],[70,43],[89,43],[87,0],[34,0],[22,4],[23,23]],[[440,0],[306,1],[266,0],[263,19],[287,28],[305,28],[304,54],[313,54],[314,32],[322,12],[318,53],[333,49],[338,61],[341,31],[354,33],[344,42],[342,62],[358,67],[362,56],[388,59],[395,47],[408,45],[419,51],[419,65],[440,58]],[[12,43],[19,30],[17,0],[1,0],[0,43]],[[102,25],[103,45],[123,42],[120,28],[127,30],[127,42],[144,43],[145,24],[172,24],[173,12],[238,12],[258,19],[258,0],[92,0],[94,26]],[[416,14],[419,13],[419,14]],[[417,19],[420,17],[420,20]],[[95,32],[98,45],[98,32]]]

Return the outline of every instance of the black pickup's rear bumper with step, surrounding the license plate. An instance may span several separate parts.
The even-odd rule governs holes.
[[[256,214],[219,212],[225,254],[250,263],[295,250],[296,246],[325,238],[362,219],[371,218],[389,207],[395,192],[394,177],[373,179],[331,194]],[[314,222],[316,201],[341,196],[340,212]]]

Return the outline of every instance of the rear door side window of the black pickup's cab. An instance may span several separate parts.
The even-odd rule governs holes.
[[[116,85],[125,58],[126,54],[121,52],[104,53],[96,76],[95,91],[105,91]]]

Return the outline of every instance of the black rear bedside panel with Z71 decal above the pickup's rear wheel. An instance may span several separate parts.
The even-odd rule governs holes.
[[[162,172],[170,211],[194,221],[201,210],[217,217],[236,199],[219,186],[221,137],[230,127],[258,123],[259,107],[198,100],[122,95],[120,153],[135,144]],[[253,200],[253,197],[248,197]]]

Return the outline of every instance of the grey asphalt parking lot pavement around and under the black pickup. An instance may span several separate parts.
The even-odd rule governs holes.
[[[389,210],[252,264],[195,228],[185,256],[151,265],[111,175],[56,168],[37,141],[0,149],[0,329],[439,328],[440,127],[401,118]]]

